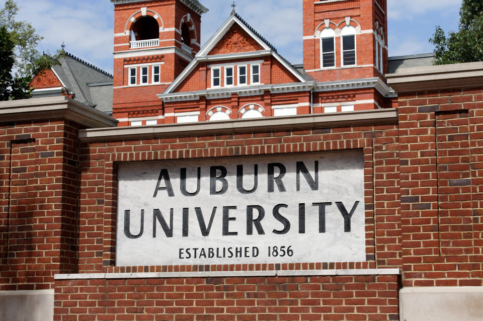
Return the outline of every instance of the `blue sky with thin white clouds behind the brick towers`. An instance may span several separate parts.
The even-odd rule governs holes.
[[[62,41],[71,54],[112,72],[114,6],[109,0],[17,0],[18,19],[44,37],[41,50],[55,52]],[[228,18],[231,0],[200,0],[204,44]],[[2,7],[5,0],[0,0]],[[302,0],[237,0],[237,13],[267,38],[279,53],[302,62]],[[389,55],[432,52],[428,42],[441,25],[458,27],[461,0],[388,0]]]

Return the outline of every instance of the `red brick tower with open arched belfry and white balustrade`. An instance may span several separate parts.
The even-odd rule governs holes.
[[[111,0],[114,4],[113,117],[119,126],[162,123],[157,94],[200,50],[198,0]]]

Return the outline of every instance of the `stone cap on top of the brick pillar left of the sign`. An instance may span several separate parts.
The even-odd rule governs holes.
[[[0,123],[64,118],[90,127],[114,127],[118,121],[65,96],[0,102]]]

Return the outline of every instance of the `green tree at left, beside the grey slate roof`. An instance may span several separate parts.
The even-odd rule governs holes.
[[[33,77],[58,64],[58,54],[52,56],[38,51],[42,37],[30,23],[16,21],[18,13],[15,0],[6,0],[4,9],[0,11],[1,100],[30,98]]]

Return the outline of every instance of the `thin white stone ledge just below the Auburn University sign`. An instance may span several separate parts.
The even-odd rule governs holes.
[[[400,269],[354,269],[354,270],[279,270],[279,271],[209,271],[209,272],[144,272],[144,273],[84,273],[56,274],[55,280],[91,279],[158,279],[158,278],[206,278],[206,277],[252,277],[252,276],[337,276],[337,275],[400,275]]]

